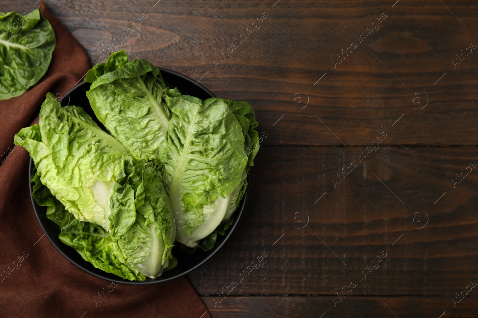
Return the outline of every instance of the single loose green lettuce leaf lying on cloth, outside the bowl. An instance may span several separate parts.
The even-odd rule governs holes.
[[[45,74],[56,45],[39,9],[25,16],[0,12],[0,100],[19,96]]]

